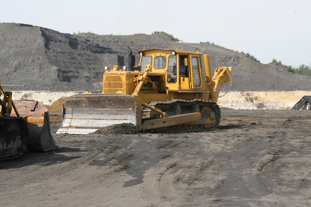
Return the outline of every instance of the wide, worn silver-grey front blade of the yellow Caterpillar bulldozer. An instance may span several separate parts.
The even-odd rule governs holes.
[[[138,102],[129,95],[81,94],[65,97],[63,124],[56,133],[88,134],[102,127],[122,123],[131,123],[137,127],[137,109],[140,111]]]

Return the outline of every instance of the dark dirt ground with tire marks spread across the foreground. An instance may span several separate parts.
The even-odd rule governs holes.
[[[311,111],[222,109],[211,132],[56,134],[0,162],[0,206],[311,205]]]

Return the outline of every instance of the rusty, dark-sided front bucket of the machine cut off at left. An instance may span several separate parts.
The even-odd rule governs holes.
[[[49,111],[38,101],[14,101],[19,116],[26,120],[28,127],[27,150],[47,152],[56,149],[51,134]],[[16,115],[12,111],[11,115]]]

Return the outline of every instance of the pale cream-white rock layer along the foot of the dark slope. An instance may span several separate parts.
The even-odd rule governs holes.
[[[14,100],[37,100],[45,105],[51,105],[61,97],[81,94],[82,92],[46,92],[46,91],[13,91]],[[220,93],[223,96],[225,93]],[[231,91],[219,97],[220,107],[231,109],[292,109],[294,104],[303,96],[311,96],[311,91]]]

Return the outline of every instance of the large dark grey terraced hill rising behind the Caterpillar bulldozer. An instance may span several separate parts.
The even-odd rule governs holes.
[[[281,64],[260,64],[245,54],[208,43],[174,42],[164,34],[71,35],[16,23],[0,23],[1,84],[7,90],[101,91],[104,66],[127,65],[127,47],[134,53],[143,48],[177,48],[209,54],[212,69],[233,67],[231,90],[311,87],[310,77],[289,72]]]

